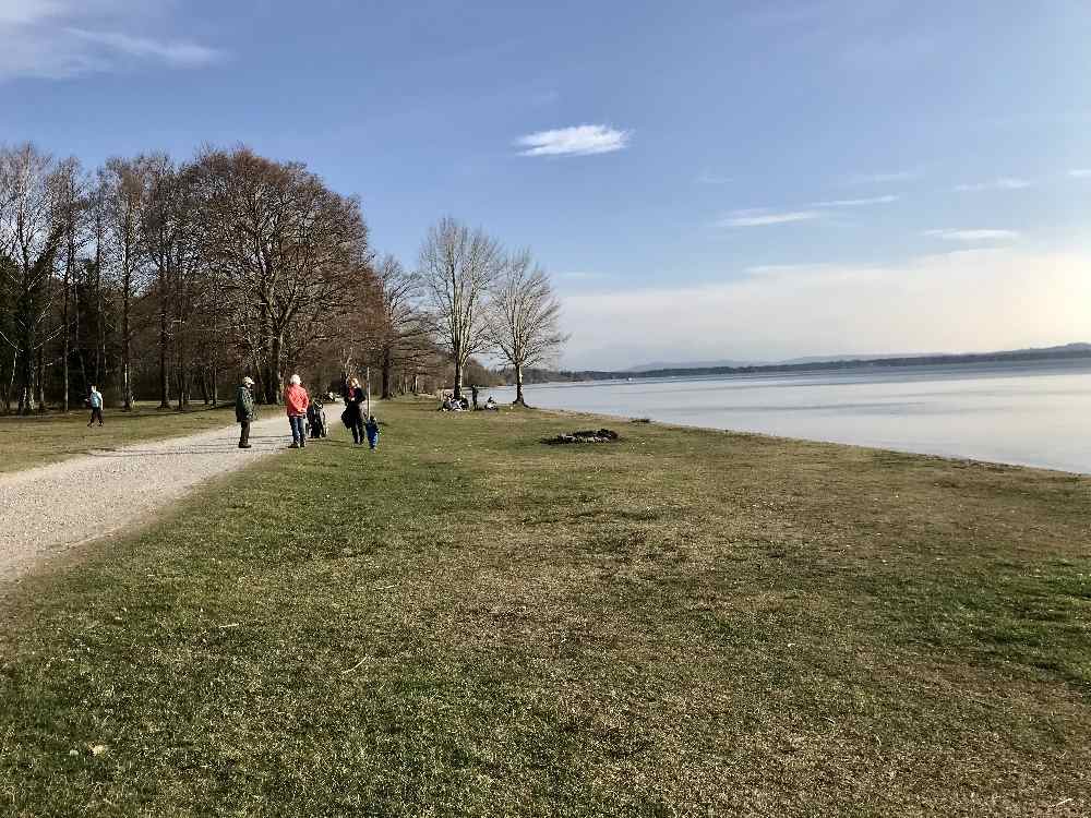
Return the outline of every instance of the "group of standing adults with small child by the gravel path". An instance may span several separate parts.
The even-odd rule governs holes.
[[[379,421],[374,414],[364,418],[363,405],[367,396],[357,378],[346,382],[344,399],[345,411],[341,412],[341,422],[352,432],[352,443],[360,446],[367,438],[368,445],[374,450],[379,447]],[[288,380],[288,386],[284,390],[284,407],[288,424],[291,426],[291,445],[288,448],[303,448],[307,446],[308,435],[311,440],[328,435],[326,412],[322,401],[317,398],[311,399],[299,375],[292,375]],[[235,398],[235,419],[240,426],[239,448],[251,447],[250,424],[256,417],[254,381],[244,377]]]

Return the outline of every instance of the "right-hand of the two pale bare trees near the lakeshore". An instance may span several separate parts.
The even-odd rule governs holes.
[[[549,276],[529,250],[507,258],[489,303],[495,351],[515,370],[515,404],[526,406],[523,371],[554,357],[567,340],[560,327],[561,304]]]

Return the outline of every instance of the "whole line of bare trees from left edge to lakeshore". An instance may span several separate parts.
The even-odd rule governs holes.
[[[92,385],[219,400],[249,374],[266,402],[291,372],[325,389],[375,368],[383,397],[516,373],[564,336],[528,251],[444,218],[416,268],[370,243],[356,196],[302,163],[247,147],[161,153],[85,169],[32,144],[0,147],[0,408],[81,404]]]

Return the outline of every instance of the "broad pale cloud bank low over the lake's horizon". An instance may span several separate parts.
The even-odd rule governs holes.
[[[563,299],[572,333],[564,363],[608,369],[649,360],[984,351],[1082,340],[1089,265],[1091,257],[1081,254],[994,248],[874,266],[768,265],[683,288],[603,287]]]

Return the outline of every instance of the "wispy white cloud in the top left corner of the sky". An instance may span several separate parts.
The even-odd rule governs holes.
[[[159,63],[196,68],[221,52],[169,29],[169,0],[0,0],[0,81],[68,79]]]

